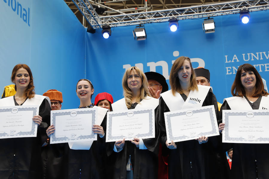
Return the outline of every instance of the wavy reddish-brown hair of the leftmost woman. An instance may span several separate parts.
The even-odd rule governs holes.
[[[26,97],[28,97],[29,99],[33,98],[36,93],[35,93],[35,87],[33,85],[33,75],[32,75],[32,72],[31,72],[30,68],[28,67],[28,65],[26,65],[26,64],[17,64],[12,70],[11,81],[13,83],[15,83],[15,81],[14,81],[15,76],[16,76],[17,71],[20,68],[24,68],[29,73],[29,76],[30,76],[30,81],[29,81],[27,89],[24,91],[24,93],[25,93],[24,95]],[[15,90],[17,91],[16,84],[15,84]]]

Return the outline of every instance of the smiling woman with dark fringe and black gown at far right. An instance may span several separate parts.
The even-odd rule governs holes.
[[[221,107],[226,109],[269,109],[269,96],[265,92],[262,78],[251,64],[239,66],[231,92],[233,97],[225,98]],[[221,115],[222,116],[222,115]],[[219,124],[222,132],[225,124]],[[233,148],[232,178],[269,178],[269,145],[254,143],[227,144]]]

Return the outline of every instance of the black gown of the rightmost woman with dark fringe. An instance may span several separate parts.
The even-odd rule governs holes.
[[[249,102],[252,109],[259,109],[260,101],[261,97],[253,105]],[[224,101],[221,107],[221,113],[225,109],[231,109],[227,101]],[[233,148],[231,178],[269,178],[269,144],[224,143],[224,151],[230,148]]]

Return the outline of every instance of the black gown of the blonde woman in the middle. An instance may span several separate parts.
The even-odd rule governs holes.
[[[135,109],[134,103],[129,109]],[[130,141],[125,141],[122,151],[114,152],[115,142],[107,144],[107,154],[109,163],[108,178],[126,179],[126,164],[131,155],[134,179],[157,179],[158,178],[158,151],[159,151],[159,128],[155,109],[155,138],[143,139],[147,149],[139,149]]]

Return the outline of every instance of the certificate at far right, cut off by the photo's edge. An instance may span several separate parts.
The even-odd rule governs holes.
[[[269,143],[269,110],[223,110],[224,143]]]

